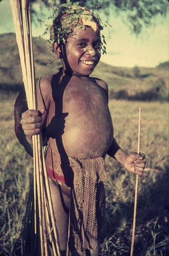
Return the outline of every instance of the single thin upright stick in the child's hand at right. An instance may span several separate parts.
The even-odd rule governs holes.
[[[139,107],[137,154],[140,153],[140,131],[141,131],[141,108]],[[133,232],[132,232],[132,242],[131,242],[131,253],[130,253],[130,256],[133,256],[133,249],[134,249],[134,235],[135,235],[136,211],[137,211],[137,196],[138,196],[138,175],[136,175],[136,181],[135,181]]]

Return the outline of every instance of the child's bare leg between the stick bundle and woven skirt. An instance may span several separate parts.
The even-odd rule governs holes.
[[[70,206],[70,188],[59,185],[58,182],[49,178],[51,197],[58,230],[58,239],[62,255],[66,255],[68,236],[68,215]]]

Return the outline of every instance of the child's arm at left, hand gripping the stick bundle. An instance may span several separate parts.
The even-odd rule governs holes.
[[[47,108],[50,102],[49,94],[42,93],[43,87],[45,86],[45,79],[40,79],[37,83],[37,99],[40,111],[28,110],[24,91],[19,93],[15,102],[15,134],[30,156],[33,156],[32,136],[39,134],[41,131],[42,139],[45,139]]]

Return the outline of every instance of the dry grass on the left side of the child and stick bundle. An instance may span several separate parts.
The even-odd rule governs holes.
[[[32,159],[14,134],[16,95],[1,93],[0,154],[0,254],[19,255],[22,221],[32,177]]]

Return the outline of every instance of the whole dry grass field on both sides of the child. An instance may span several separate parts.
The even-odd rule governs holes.
[[[14,135],[16,94],[1,92],[0,254],[20,255],[23,217],[33,168]],[[134,256],[169,253],[168,105],[166,102],[110,100],[115,138],[124,150],[137,151],[141,106],[141,152],[148,161],[139,178]],[[106,218],[100,255],[130,255],[135,176],[106,157]]]

